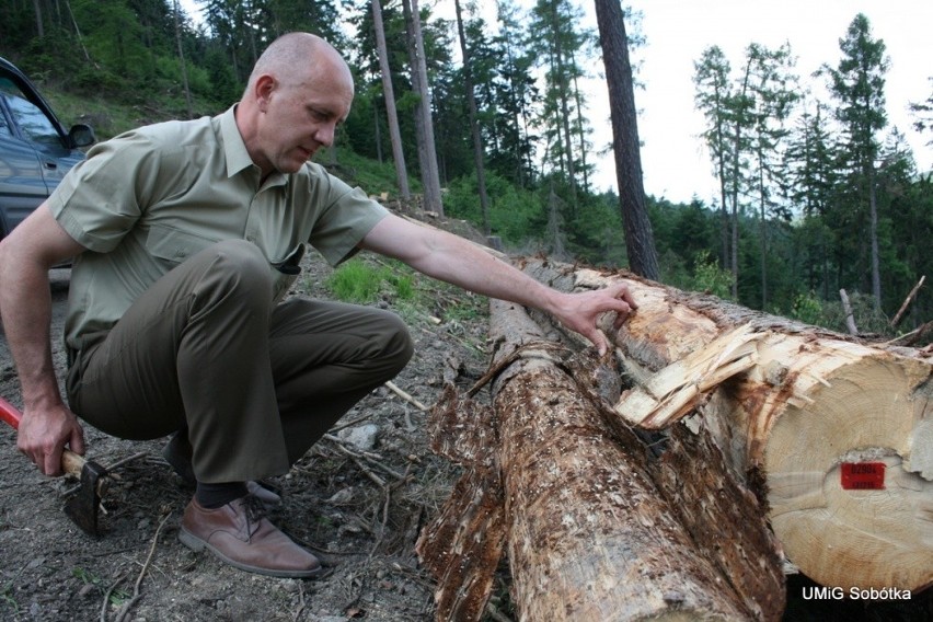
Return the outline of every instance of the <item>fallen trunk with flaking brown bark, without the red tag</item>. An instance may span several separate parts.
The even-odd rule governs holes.
[[[718,449],[692,437],[658,459],[601,406],[612,388],[599,378],[614,375],[618,384],[614,369],[565,361],[557,353],[566,348],[542,341],[523,310],[492,309],[502,367],[494,415],[468,421],[473,408],[448,391],[433,416],[435,449],[468,466],[418,542],[439,577],[438,620],[476,620],[488,595],[488,561],[502,541],[498,529],[475,529],[477,507],[483,521],[505,528],[522,620],[779,619],[775,543]],[[703,469],[678,484],[683,460]],[[500,493],[480,475],[495,464]],[[499,495],[499,508],[479,500]]]

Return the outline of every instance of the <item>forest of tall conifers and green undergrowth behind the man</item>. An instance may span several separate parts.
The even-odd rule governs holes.
[[[802,96],[790,45],[748,42],[741,58],[712,45],[694,59],[693,104],[719,193],[683,205],[644,196],[638,175],[621,199],[595,189],[595,163],[613,152],[581,83],[618,78],[603,71],[607,35],[585,25],[579,1],[457,0],[452,16],[417,0],[193,4],[198,19],[177,0],[2,0],[0,55],[71,102],[66,123],[82,117],[106,138],[221,112],[272,39],[313,32],[344,51],[357,87],[319,158],[371,194],[470,220],[514,252],[613,267],[632,265],[623,222],[635,196],[656,257],[647,276],[840,331],[844,289],[861,333],[929,331],[930,285],[898,311],[921,277],[933,278],[933,174],[917,170],[888,124],[889,59],[864,14],[827,35],[840,45],[815,77],[826,100]],[[633,58],[638,18],[625,10],[629,32],[621,20],[612,26]],[[644,79],[623,76],[630,91]],[[902,104],[930,136],[933,92]],[[106,113],[118,107],[131,118]],[[636,115],[626,123],[637,140]],[[360,161],[394,176],[360,181]]]

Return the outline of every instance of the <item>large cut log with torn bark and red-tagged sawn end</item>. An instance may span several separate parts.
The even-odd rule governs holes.
[[[691,425],[702,419],[733,474],[767,497],[787,558],[814,580],[846,589],[919,590],[933,583],[929,356],[627,274],[543,261],[528,262],[526,270],[566,291],[618,278],[630,284],[640,307],[613,338],[643,394],[657,393],[650,383],[666,367],[682,369],[691,353],[749,324],[760,334],[756,362],[706,394],[696,392]],[[630,411],[624,401],[618,410]],[[678,408],[668,421],[691,412]],[[653,416],[641,412],[635,421]]]

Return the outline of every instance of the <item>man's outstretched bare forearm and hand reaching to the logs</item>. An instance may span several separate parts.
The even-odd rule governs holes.
[[[470,291],[546,311],[592,342],[600,355],[606,353],[608,344],[596,325],[599,315],[615,311],[618,326],[637,308],[624,284],[597,291],[563,293],[462,238],[391,214],[372,228],[360,247],[395,257],[421,273]]]

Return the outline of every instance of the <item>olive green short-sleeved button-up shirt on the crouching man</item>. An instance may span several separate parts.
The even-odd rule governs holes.
[[[388,212],[320,165],[274,173],[261,184],[234,119],[142,127],[94,146],[49,198],[65,230],[88,249],[71,270],[66,342],[108,330],[157,279],[209,245],[256,244],[280,300],[296,270],[279,266],[311,244],[332,265]]]

